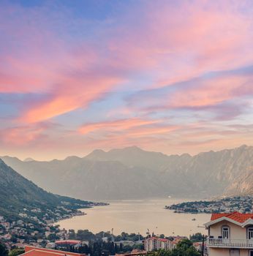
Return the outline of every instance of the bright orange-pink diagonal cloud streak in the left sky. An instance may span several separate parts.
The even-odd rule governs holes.
[[[67,78],[48,100],[26,110],[20,121],[27,123],[45,121],[78,108],[85,108],[88,103],[99,99],[103,93],[121,82],[120,78],[113,77],[94,78],[94,80]]]

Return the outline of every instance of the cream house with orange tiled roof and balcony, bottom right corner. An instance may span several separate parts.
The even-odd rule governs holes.
[[[205,227],[209,256],[253,256],[253,214],[212,214]]]

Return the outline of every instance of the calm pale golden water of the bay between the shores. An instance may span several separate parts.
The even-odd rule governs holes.
[[[88,229],[93,233],[113,228],[115,234],[146,234],[147,229],[165,236],[189,236],[192,233],[207,233],[203,223],[210,220],[210,214],[175,214],[165,206],[185,202],[185,199],[162,198],[149,200],[112,200],[110,206],[83,209],[87,215],[64,219],[57,224],[61,228]],[[195,218],[196,221],[192,221]],[[197,227],[201,226],[201,227]]]

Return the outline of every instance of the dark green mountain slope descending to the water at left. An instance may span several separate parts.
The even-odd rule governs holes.
[[[86,208],[91,202],[53,195],[23,178],[0,159],[0,215],[10,220],[20,219],[21,213],[41,217],[56,217],[53,211],[68,214],[77,208]],[[35,210],[36,212],[37,210]]]

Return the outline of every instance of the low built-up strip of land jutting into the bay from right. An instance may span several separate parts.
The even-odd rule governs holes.
[[[212,214],[222,212],[239,211],[251,213],[253,196],[225,197],[219,200],[200,200],[185,203],[177,203],[165,206],[166,209],[175,213],[186,214]]]

